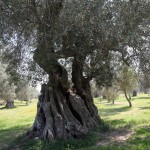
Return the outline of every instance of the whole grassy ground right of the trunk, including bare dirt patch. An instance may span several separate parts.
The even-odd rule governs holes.
[[[102,135],[96,146],[82,150],[148,150],[150,149],[150,96],[141,94],[132,98],[129,108],[123,96],[116,104],[95,99],[102,119],[111,131]]]

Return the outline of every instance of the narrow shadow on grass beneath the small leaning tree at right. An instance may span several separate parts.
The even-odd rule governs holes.
[[[112,116],[112,115],[116,115],[119,114],[121,112],[125,112],[125,111],[129,111],[131,110],[131,107],[121,107],[121,108],[109,108],[109,109],[99,109],[99,114],[102,116]]]

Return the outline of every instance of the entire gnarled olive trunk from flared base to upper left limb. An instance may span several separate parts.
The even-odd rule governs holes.
[[[35,121],[27,135],[48,141],[83,137],[91,128],[98,126],[100,121],[93,104],[89,81],[83,76],[83,68],[79,68],[83,62],[77,60],[72,53],[74,51],[61,51],[61,56],[74,57],[72,82],[76,87],[75,92],[69,86],[66,69],[58,63],[61,56],[53,48],[53,26],[62,2],[63,0],[53,1],[50,4],[52,8],[46,7],[43,20],[37,18],[38,46],[34,60],[47,72],[49,82],[42,85]],[[51,12],[47,16],[49,10]]]

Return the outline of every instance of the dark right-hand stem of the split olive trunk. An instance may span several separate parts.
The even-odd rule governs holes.
[[[85,58],[79,56],[74,57],[72,65],[72,82],[74,87],[77,89],[77,94],[84,100],[91,117],[97,122],[97,120],[99,120],[99,115],[97,108],[93,103],[90,80],[83,76],[84,61]]]

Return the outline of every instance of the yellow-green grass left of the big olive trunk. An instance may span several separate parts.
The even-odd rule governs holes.
[[[34,100],[26,106],[25,102],[15,101],[15,108],[0,107],[0,149],[31,127],[36,114],[36,103]]]

